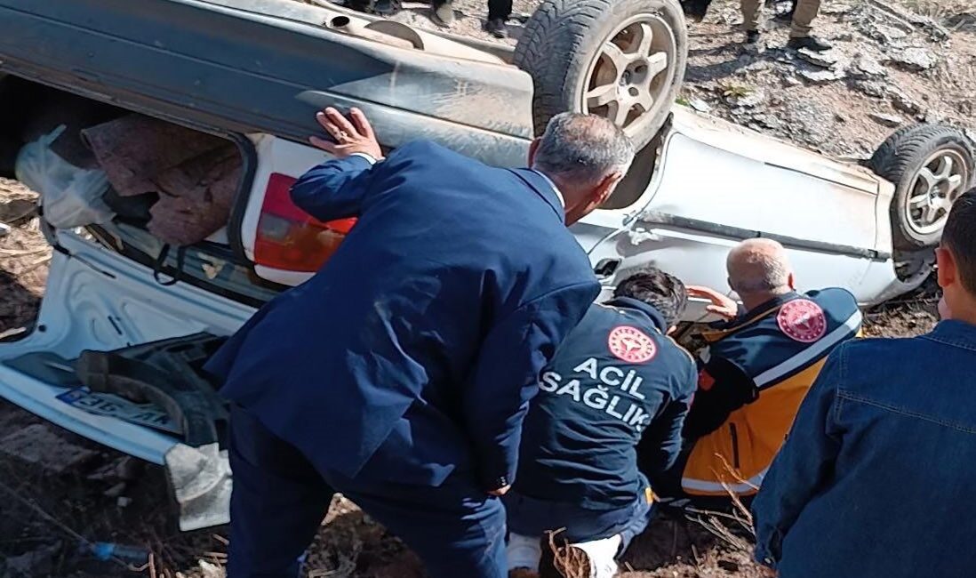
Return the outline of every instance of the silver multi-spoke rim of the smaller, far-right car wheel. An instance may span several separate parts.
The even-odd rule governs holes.
[[[939,150],[929,156],[915,175],[905,199],[907,222],[918,234],[942,230],[949,209],[969,182],[965,159],[955,150]]]

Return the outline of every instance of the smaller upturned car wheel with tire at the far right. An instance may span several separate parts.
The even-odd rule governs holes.
[[[895,186],[895,249],[917,251],[938,244],[952,203],[972,185],[973,159],[969,139],[938,124],[902,128],[878,147],[868,165]]]

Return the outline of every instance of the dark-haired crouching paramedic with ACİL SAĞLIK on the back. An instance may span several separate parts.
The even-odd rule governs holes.
[[[697,373],[668,334],[687,292],[671,275],[646,269],[614,295],[570,332],[530,404],[505,498],[513,573],[537,571],[540,538],[565,528],[560,538],[588,559],[587,575],[612,576],[615,558],[650,520],[637,444],[651,472],[667,470],[680,451]]]

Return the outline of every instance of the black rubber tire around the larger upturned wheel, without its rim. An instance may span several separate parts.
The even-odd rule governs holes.
[[[671,63],[674,79],[662,99],[666,104],[654,111],[656,119],[641,134],[631,135],[638,149],[654,139],[668,118],[687,63],[688,32],[678,0],[545,0],[526,22],[513,56],[513,62],[532,75],[536,135],[545,131],[552,116],[579,111],[574,96],[587,80],[594,54],[619,22],[641,13],[669,17],[677,47],[676,62]]]

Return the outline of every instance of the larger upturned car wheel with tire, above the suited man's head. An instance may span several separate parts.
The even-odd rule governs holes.
[[[664,126],[687,60],[677,0],[545,0],[513,62],[533,78],[537,135],[560,112],[588,112],[614,120],[639,149]]]

